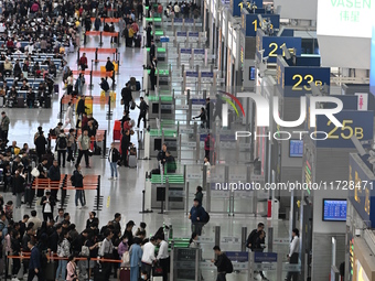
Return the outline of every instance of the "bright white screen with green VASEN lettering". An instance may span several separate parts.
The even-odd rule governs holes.
[[[372,0],[319,0],[319,35],[371,37]]]

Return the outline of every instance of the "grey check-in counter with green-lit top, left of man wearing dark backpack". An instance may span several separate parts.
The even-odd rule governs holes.
[[[164,174],[163,182],[161,182],[161,175],[159,174],[151,176],[151,208],[161,207],[161,202],[157,201],[157,187],[165,186],[165,179],[168,179],[169,183],[169,209],[184,209],[185,181],[182,174]]]

